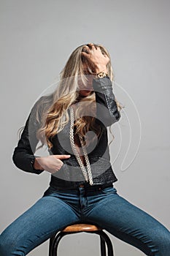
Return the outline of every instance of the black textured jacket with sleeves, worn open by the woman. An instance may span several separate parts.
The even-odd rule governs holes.
[[[97,141],[96,147],[88,153],[91,170],[93,173],[93,184],[109,184],[117,181],[110,163],[107,127],[114,124],[120,119],[120,112],[117,110],[115,95],[112,91],[112,81],[109,77],[93,78],[93,89],[96,93],[96,121],[102,127],[102,133]],[[36,109],[36,104],[31,109],[31,113]],[[70,111],[70,110],[69,110]],[[12,155],[12,160],[15,165],[26,172],[40,174],[44,170],[34,169],[35,150],[39,142],[36,138],[36,129],[38,124],[34,120],[30,125],[31,113],[29,114],[26,125],[21,134],[18,146]],[[69,112],[70,117],[70,112]],[[85,184],[85,178],[82,175],[82,170],[77,162],[77,159],[72,151],[69,143],[69,123],[61,132],[56,135],[53,140],[53,148],[49,151],[50,154],[70,154],[69,159],[62,159],[63,165],[60,170],[51,175],[50,185],[56,188],[74,188],[79,184]],[[32,136],[30,144],[30,136]],[[62,145],[61,145],[62,144]],[[57,146],[55,146],[57,145]],[[70,146],[70,147],[69,147]]]

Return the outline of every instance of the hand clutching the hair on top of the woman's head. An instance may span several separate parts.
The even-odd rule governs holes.
[[[107,72],[109,57],[104,53],[104,50],[101,51],[100,47],[93,44],[85,45],[81,54],[88,61],[94,72]]]

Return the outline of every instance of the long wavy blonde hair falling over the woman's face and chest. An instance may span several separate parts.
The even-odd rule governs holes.
[[[110,80],[113,82],[114,74],[109,52],[103,45],[95,44],[95,46],[101,49],[101,53],[104,53],[109,57],[107,71]],[[66,62],[65,67],[63,67],[60,72],[60,79],[57,89],[55,89],[52,94],[41,97],[36,104],[36,121],[40,124],[39,129],[36,131],[36,138],[42,142],[42,145],[36,148],[36,150],[44,146],[45,143],[47,143],[48,148],[52,148],[53,143],[51,142],[51,139],[58,132],[61,132],[63,127],[69,121],[69,106],[77,102],[78,97],[80,97],[79,91],[77,90],[77,78],[81,78],[82,83],[85,83],[86,81],[85,73],[83,70],[83,63],[85,63],[86,59],[81,55],[82,51],[84,50],[85,45],[80,45],[72,52],[68,61]],[[93,70],[89,67],[89,65],[88,74],[93,75]],[[78,107],[75,111],[76,116],[81,116],[75,121],[75,133],[80,132],[84,138],[85,134],[89,130],[92,130],[99,137],[101,135],[102,129],[99,124],[96,124],[95,92],[91,91],[87,97],[82,97],[80,101],[83,102],[83,105],[80,105],[80,107]],[[121,110],[123,107],[119,102],[117,102],[116,98],[115,102],[117,104],[118,110]],[[83,109],[86,111],[88,110],[88,116],[84,116],[82,114]],[[41,113],[40,110],[42,110]],[[111,132],[111,129],[109,129],[109,132]],[[112,135],[112,137],[114,138],[114,135]]]

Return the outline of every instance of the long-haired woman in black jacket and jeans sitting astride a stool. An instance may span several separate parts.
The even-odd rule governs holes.
[[[50,186],[1,233],[1,256],[27,255],[79,222],[99,225],[145,255],[170,255],[169,230],[113,186],[117,178],[109,161],[107,127],[120,119],[122,107],[112,80],[107,49],[81,45],[69,57],[55,92],[32,108],[12,159],[21,170],[51,173]],[[50,156],[34,156],[39,140]]]

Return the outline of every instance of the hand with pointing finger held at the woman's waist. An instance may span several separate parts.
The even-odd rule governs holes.
[[[47,157],[36,157],[34,162],[34,168],[36,170],[47,170],[49,173],[56,173],[63,166],[61,159],[67,159],[71,157],[66,154],[54,154]]]

